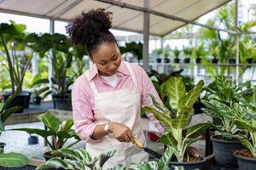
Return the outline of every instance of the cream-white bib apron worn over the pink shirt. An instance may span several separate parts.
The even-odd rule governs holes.
[[[124,123],[131,128],[133,135],[145,144],[141,126],[141,99],[137,80],[131,65],[127,62],[124,63],[131,74],[133,88],[98,93],[95,83],[93,81],[90,82],[95,96],[95,123],[99,125],[107,122]],[[85,74],[88,77],[88,72]],[[106,153],[108,150],[117,150],[117,153],[104,164],[103,169],[108,169],[118,164],[130,165],[131,163],[148,161],[146,152],[137,148],[131,142],[119,142],[113,137],[113,133],[102,137],[102,142],[100,143],[86,144],[86,150],[92,157]]]

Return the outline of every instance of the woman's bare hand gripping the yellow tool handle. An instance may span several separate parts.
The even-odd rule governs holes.
[[[119,142],[132,142],[135,144],[131,129],[125,126],[125,124],[119,122],[110,122],[109,130],[113,133],[114,138],[118,139]]]

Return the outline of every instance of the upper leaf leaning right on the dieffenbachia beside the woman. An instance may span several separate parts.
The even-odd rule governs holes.
[[[186,94],[181,99],[179,99],[178,105],[177,105],[178,113],[183,114],[184,112],[193,108],[193,105],[195,104],[195,101],[198,99],[203,86],[204,86],[203,81],[198,82],[195,88],[191,89],[188,94]]]

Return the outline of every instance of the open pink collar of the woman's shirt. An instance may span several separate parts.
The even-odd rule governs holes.
[[[117,76],[126,76],[130,75],[130,72],[128,71],[127,67],[125,66],[125,61],[121,61],[121,64],[119,65],[118,71],[117,71]],[[95,64],[93,64],[90,69],[89,69],[89,81],[92,79],[99,77],[99,72]]]

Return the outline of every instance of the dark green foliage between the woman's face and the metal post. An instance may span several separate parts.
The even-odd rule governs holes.
[[[130,52],[138,60],[143,59],[143,43],[142,42],[126,42],[125,47],[119,47],[120,53],[125,54]]]

